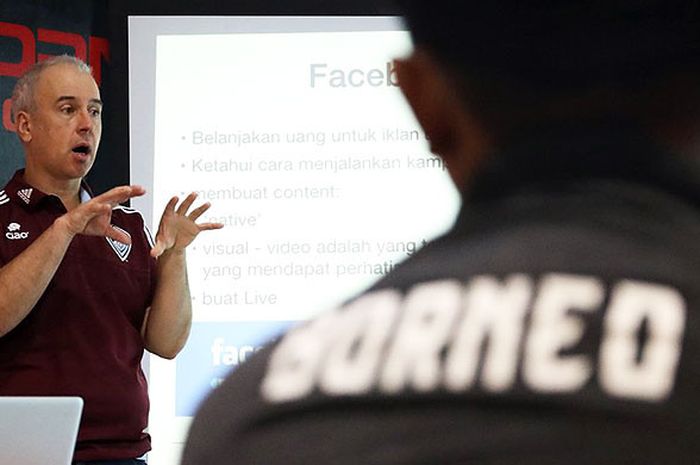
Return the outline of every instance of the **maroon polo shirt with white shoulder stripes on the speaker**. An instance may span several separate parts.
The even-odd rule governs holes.
[[[58,197],[22,174],[0,191],[0,266],[66,213]],[[76,236],[36,306],[0,337],[0,395],[84,399],[76,460],[133,458],[150,449],[140,331],[156,262],[138,212],[117,207],[112,224],[131,235],[131,246]]]

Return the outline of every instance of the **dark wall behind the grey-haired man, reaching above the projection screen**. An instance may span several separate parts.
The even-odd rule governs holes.
[[[0,0],[0,100],[9,99],[17,79],[18,64],[21,65],[23,60],[33,63],[39,54],[75,54],[70,46],[40,40],[46,38],[46,30],[80,35],[88,45],[88,58],[91,37],[108,42],[108,52],[99,56],[99,84],[105,101],[102,142],[97,161],[88,176],[95,192],[104,192],[129,182],[129,15],[392,14],[397,14],[397,9],[390,0]],[[3,24],[10,26],[3,28]],[[36,45],[33,54],[14,37],[14,32],[9,30],[15,27],[12,25],[31,31]],[[99,45],[95,45],[95,51]],[[14,71],[8,73],[8,68]],[[0,131],[0,188],[22,165],[22,147],[16,135],[3,129]]]

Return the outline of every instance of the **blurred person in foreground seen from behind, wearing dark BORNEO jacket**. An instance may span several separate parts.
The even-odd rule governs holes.
[[[697,463],[698,2],[402,6],[462,211],[239,367],[183,464]]]

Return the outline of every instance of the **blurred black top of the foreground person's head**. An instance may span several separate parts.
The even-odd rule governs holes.
[[[660,82],[700,71],[697,0],[398,2],[414,44],[497,127],[638,109]]]

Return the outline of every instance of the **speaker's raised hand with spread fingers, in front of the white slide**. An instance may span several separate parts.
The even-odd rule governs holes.
[[[202,213],[211,206],[207,202],[187,213],[196,197],[197,194],[191,193],[177,209],[175,209],[175,206],[180,199],[177,197],[170,199],[160,219],[158,233],[156,234],[156,245],[151,249],[151,256],[159,257],[168,249],[184,249],[192,243],[201,231],[224,227],[221,223],[196,223]]]

